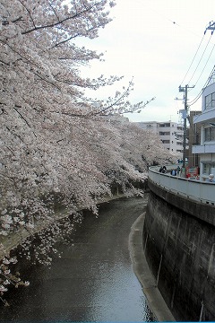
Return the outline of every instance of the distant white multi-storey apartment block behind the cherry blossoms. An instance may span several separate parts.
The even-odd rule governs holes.
[[[160,140],[164,146],[171,152],[175,153],[178,158],[182,158],[183,155],[183,138],[184,127],[178,125],[176,122],[136,122],[142,129],[150,130],[159,135]]]

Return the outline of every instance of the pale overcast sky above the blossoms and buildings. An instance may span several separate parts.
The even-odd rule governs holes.
[[[141,113],[125,117],[179,122],[184,103],[178,86],[195,85],[188,92],[192,101],[215,65],[215,32],[204,35],[209,22],[215,21],[215,0],[116,0],[111,16],[113,22],[99,31],[98,39],[84,42],[105,53],[105,62],[91,63],[84,74],[125,76],[117,87],[102,89],[99,98],[120,91],[133,77],[130,100],[156,100]],[[191,109],[201,109],[201,99]]]

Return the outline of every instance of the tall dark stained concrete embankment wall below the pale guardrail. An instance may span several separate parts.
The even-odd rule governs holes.
[[[215,320],[215,208],[149,180],[143,249],[176,320]]]

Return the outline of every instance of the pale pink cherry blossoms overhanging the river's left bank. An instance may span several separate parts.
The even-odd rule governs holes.
[[[22,232],[20,242],[30,258],[37,231],[43,243],[34,253],[49,264],[56,236],[73,230],[66,219],[56,221],[61,212],[76,221],[82,208],[97,214],[99,199],[111,196],[114,185],[127,195],[142,194],[133,184],[147,178],[150,163],[169,158],[157,137],[116,118],[150,103],[127,100],[133,81],[106,101],[84,95],[84,89],[122,78],[81,77],[79,66],[102,54],[75,45],[76,38],[98,37],[114,5],[109,0],[0,0],[2,294],[6,284],[28,285],[10,272],[16,260],[4,246],[8,235]]]

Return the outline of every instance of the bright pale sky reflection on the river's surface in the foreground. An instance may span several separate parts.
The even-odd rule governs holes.
[[[93,306],[95,304],[96,307]],[[131,266],[125,266],[120,258],[115,266],[106,267],[99,277],[98,284],[93,288],[91,305],[86,316],[92,321],[97,321],[98,318],[102,321],[153,319]]]

